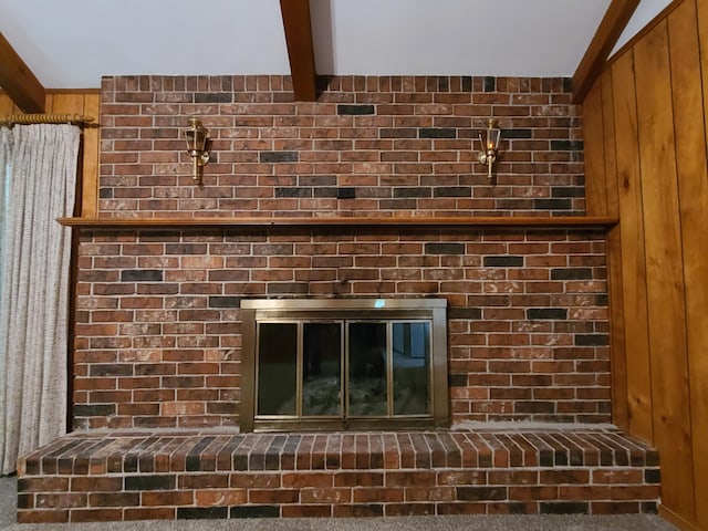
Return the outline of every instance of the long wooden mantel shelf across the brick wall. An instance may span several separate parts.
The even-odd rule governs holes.
[[[568,229],[611,228],[617,223],[612,217],[332,217],[332,218],[59,218],[65,227],[83,229],[199,229],[199,228],[250,228],[293,229],[333,227],[430,227],[430,228],[480,228],[480,229]]]

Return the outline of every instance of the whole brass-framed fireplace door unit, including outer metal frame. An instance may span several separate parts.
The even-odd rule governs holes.
[[[448,424],[445,299],[242,301],[241,429]]]

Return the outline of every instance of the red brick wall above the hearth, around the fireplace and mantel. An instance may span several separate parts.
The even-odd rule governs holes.
[[[295,104],[279,76],[106,79],[100,216],[582,215],[564,87],[342,77]],[[214,137],[204,188],[188,115]],[[497,186],[472,163],[489,116]],[[85,231],[74,426],[238,425],[239,301],[337,295],[447,298],[454,423],[607,421],[605,277],[602,230]]]

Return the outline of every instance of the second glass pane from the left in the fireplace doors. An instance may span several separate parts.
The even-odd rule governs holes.
[[[302,414],[342,415],[342,325],[304,323]]]

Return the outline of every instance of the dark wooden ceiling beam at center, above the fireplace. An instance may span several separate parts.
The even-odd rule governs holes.
[[[314,45],[310,22],[310,0],[280,0],[290,73],[296,102],[314,102],[317,91],[314,71]]]

